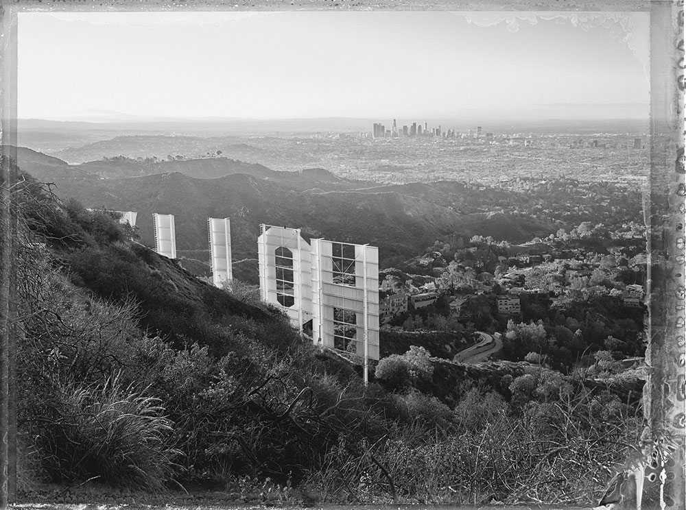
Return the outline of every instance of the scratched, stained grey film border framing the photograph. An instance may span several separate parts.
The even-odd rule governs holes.
[[[670,463],[662,457],[661,468],[674,474],[662,508],[685,509],[684,433],[686,430],[686,317],[685,317],[685,167],[684,167],[684,17],[683,1],[676,0],[230,0],[230,1],[161,1],[161,0],[1,0],[0,60],[0,137],[2,167],[0,172],[0,239],[11,242],[9,221],[11,183],[8,156],[16,160],[16,14],[40,11],[145,11],[145,10],[453,10],[509,11],[510,18],[528,12],[649,12],[650,13],[650,182],[644,196],[647,226],[648,305],[646,363],[649,373],[644,389],[644,415],[649,437],[643,450],[654,452],[664,435],[676,439],[676,454]],[[535,18],[535,16],[534,16]],[[503,15],[503,20],[506,16]],[[535,20],[534,20],[535,21]],[[507,86],[506,77],[494,76]],[[7,222],[3,222],[7,220]],[[5,228],[8,227],[8,228]],[[5,250],[6,252],[7,250]],[[1,259],[10,262],[3,255]],[[12,267],[3,265],[0,293],[11,294]],[[6,280],[6,281],[5,281]],[[5,289],[7,287],[7,289]],[[12,436],[12,335],[10,335],[11,300],[0,299],[0,437]],[[8,369],[8,366],[9,369]],[[16,424],[14,425],[16,432]],[[10,448],[8,450],[8,448]],[[12,467],[12,441],[0,441],[0,488],[7,488],[2,476]],[[16,456],[15,456],[16,457]],[[655,458],[655,457],[653,457]],[[15,466],[16,467],[16,466]],[[10,476],[11,480],[11,476]],[[11,484],[11,481],[10,481]],[[9,487],[12,500],[12,485]],[[3,491],[0,491],[3,492]],[[6,492],[6,491],[5,491]],[[6,507],[6,494],[0,494],[0,507]]]

